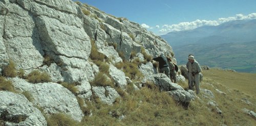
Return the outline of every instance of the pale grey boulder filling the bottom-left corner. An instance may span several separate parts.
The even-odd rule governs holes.
[[[0,91],[0,101],[0,120],[5,125],[47,125],[42,113],[23,94]]]

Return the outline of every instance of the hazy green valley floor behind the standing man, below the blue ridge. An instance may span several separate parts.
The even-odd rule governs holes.
[[[194,54],[200,65],[234,69],[238,72],[256,73],[256,42],[224,43],[217,45],[190,44],[174,46],[178,64],[187,62],[187,55]]]

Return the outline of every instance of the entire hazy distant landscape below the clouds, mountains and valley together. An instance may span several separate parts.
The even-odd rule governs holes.
[[[194,54],[201,65],[256,73],[256,19],[170,32],[161,37],[172,45],[178,64],[185,64],[188,54]]]

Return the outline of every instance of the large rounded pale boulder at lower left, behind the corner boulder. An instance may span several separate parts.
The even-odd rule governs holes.
[[[83,117],[75,95],[60,84],[31,84],[18,78],[13,78],[12,82],[17,90],[28,91],[33,97],[33,105],[40,107],[45,114],[62,112],[77,121]]]

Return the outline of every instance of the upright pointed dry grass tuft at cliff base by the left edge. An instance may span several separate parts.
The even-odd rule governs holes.
[[[5,66],[3,68],[3,75],[5,75],[5,77],[16,77],[17,76],[17,70],[16,70],[16,65],[14,64],[14,62],[12,60],[9,60],[9,65]]]

